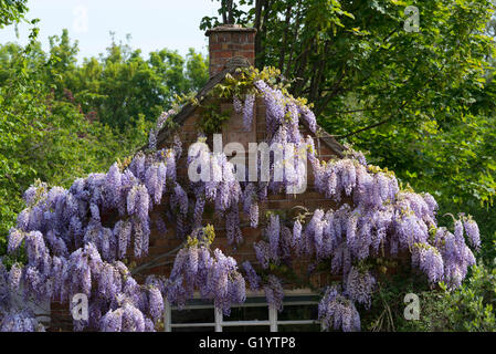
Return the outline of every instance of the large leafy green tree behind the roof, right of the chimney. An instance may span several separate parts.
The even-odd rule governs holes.
[[[405,29],[408,6],[419,10],[418,32]],[[338,140],[433,194],[441,215],[447,206],[474,215],[493,259],[493,10],[488,0],[240,0],[219,14],[257,29],[256,66],[293,80],[292,93]]]

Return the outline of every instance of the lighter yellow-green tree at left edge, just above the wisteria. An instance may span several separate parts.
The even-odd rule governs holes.
[[[30,46],[0,46],[0,254],[24,205],[22,192],[35,179],[63,186],[106,168],[108,158],[124,157],[141,145],[150,128],[143,116],[126,134],[87,119],[70,92],[56,97],[46,80],[55,72],[52,61],[39,43]]]

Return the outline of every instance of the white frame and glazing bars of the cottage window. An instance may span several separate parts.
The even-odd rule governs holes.
[[[315,305],[318,304],[318,301],[315,300],[291,300],[291,298],[306,298],[306,296],[315,296],[315,293],[309,291],[287,291],[285,292],[285,300],[283,301],[283,305]],[[194,296],[199,299],[198,295]],[[172,329],[179,327],[188,327],[194,330],[194,327],[212,327],[214,332],[222,332],[223,327],[230,326],[268,326],[270,332],[277,332],[279,325],[305,325],[305,324],[320,324],[321,322],[317,319],[315,320],[285,320],[281,321],[277,319],[277,309],[267,304],[265,300],[265,295],[260,292],[251,292],[246,294],[249,299],[257,299],[255,302],[245,302],[243,304],[235,304],[232,308],[263,308],[267,306],[268,310],[268,320],[252,320],[252,321],[224,321],[224,316],[222,314],[222,310],[218,309],[212,304],[188,304],[183,306],[181,310],[200,310],[200,309],[212,309],[214,311],[214,322],[202,322],[202,323],[172,323],[171,313],[172,310],[179,310],[176,306],[172,306],[169,302],[165,303],[163,311],[163,331],[172,332]],[[263,300],[263,301],[260,301]]]

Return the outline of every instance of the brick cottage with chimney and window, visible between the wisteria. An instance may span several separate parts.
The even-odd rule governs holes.
[[[254,65],[255,52],[254,41],[256,30],[242,28],[240,25],[222,25],[209,30],[210,55],[210,80],[198,93],[197,98],[202,102],[205,96],[222,83],[228,75],[238,75],[239,69]],[[257,97],[254,103],[254,117],[250,129],[243,127],[243,116],[236,113],[232,98],[207,98],[218,102],[221,112],[229,114],[229,119],[222,125],[218,133],[222,134],[222,143],[241,143],[247,150],[249,143],[263,143],[266,140],[266,106],[263,98]],[[177,171],[178,179],[188,178],[187,148],[196,143],[199,135],[198,124],[201,117],[201,107],[192,103],[187,104],[177,113],[172,121],[175,129],[161,129],[157,135],[157,149],[171,146],[175,136],[178,135],[182,142],[184,150],[179,159]],[[300,121],[300,133],[309,135],[314,139],[314,145],[319,159],[342,157],[345,147],[337,143],[330,135],[320,129],[319,134],[313,133],[308,123]],[[207,136],[207,143],[212,148],[212,136]],[[294,217],[300,208],[306,208],[313,212],[316,208],[325,210],[336,207],[336,205],[315,190],[312,168],[307,168],[307,188],[303,194],[289,195],[285,192],[268,194],[267,199],[258,204],[260,222],[257,228],[251,228],[246,215],[241,212],[241,231],[243,241],[240,244],[229,244],[225,229],[225,221],[215,216],[209,218],[203,216],[203,225],[211,223],[215,229],[215,240],[211,248],[221,249],[225,254],[233,257],[239,264],[249,260],[253,264],[257,263],[254,242],[263,239],[266,220],[266,211],[276,211],[287,217]],[[167,214],[168,202],[165,200],[161,206],[157,206],[150,218],[151,228],[149,240],[149,253],[143,259],[136,259],[139,273],[135,277],[141,281],[149,274],[168,277],[175,256],[183,240],[177,236],[177,228],[173,225],[167,226],[167,231],[161,231],[154,223],[155,218],[160,218]],[[299,209],[298,209],[299,208]],[[113,219],[113,215],[105,218]],[[296,261],[294,270],[304,279],[304,282],[316,288],[325,285],[330,275],[328,272],[314,272],[307,275],[305,269],[308,263],[305,260]],[[317,321],[318,296],[309,287],[300,283],[284,283],[285,300],[282,312],[268,306],[263,291],[247,292],[246,302],[239,308],[233,308],[230,316],[223,316],[222,311],[214,309],[212,302],[193,300],[186,309],[178,310],[170,304],[166,304],[165,331],[318,331],[320,325]],[[66,305],[52,303],[52,314],[56,317],[67,319]],[[56,322],[56,321],[55,321]],[[52,323],[53,327],[57,324]],[[65,327],[65,325],[60,325]]]

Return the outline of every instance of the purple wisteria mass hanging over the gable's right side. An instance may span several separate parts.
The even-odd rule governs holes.
[[[451,289],[461,285],[468,267],[475,264],[464,233],[474,248],[481,246],[478,228],[472,219],[455,220],[452,233],[437,227],[434,198],[400,190],[391,173],[363,165],[353,157],[327,165],[314,162],[316,188],[341,201],[341,206],[337,210],[317,209],[304,225],[295,220],[292,231],[286,231],[287,226],[277,216],[271,216],[266,240],[254,244],[262,269],[268,269],[271,263],[291,263],[294,256],[314,258],[316,262],[329,260],[330,271],[342,275],[344,292],[324,299],[328,302],[323,304],[324,317],[337,315],[335,310],[328,310],[330,304],[349,315],[355,313],[350,309],[356,303],[370,306],[376,280],[370,271],[359,271],[353,264],[373,258],[411,253],[412,267],[431,283],[444,281]],[[352,308],[345,308],[347,303]],[[352,327],[346,325],[347,330]]]

